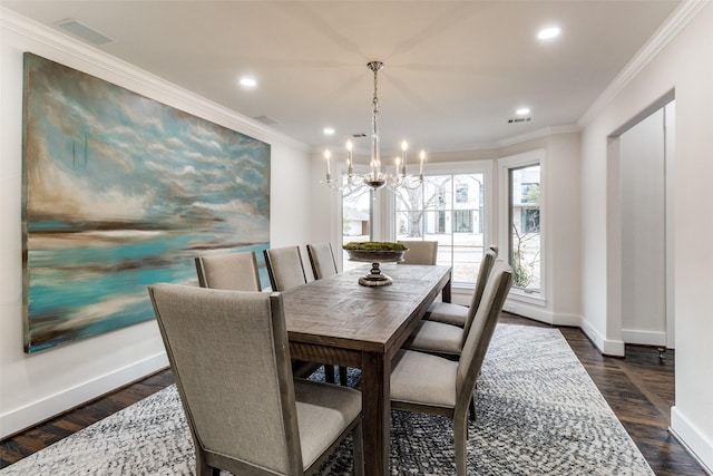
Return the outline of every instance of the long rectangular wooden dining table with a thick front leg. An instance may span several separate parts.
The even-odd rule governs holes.
[[[369,288],[364,265],[283,293],[293,359],[361,369],[364,474],[389,474],[391,359],[439,293],[450,302],[451,268],[390,264],[393,284]]]

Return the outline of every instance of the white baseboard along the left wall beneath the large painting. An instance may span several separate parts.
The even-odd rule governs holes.
[[[33,401],[25,407],[2,414],[0,415],[0,438],[6,438],[33,427],[38,422],[64,414],[70,408],[75,408],[166,367],[168,367],[168,358],[166,352],[160,352],[50,397]]]

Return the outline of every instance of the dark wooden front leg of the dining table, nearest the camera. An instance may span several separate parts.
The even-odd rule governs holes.
[[[364,474],[389,474],[391,362],[383,353],[364,352],[361,367]]]

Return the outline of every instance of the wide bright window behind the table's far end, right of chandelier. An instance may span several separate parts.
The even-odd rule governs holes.
[[[395,239],[438,241],[438,263],[453,268],[453,284],[472,285],[482,260],[485,175],[427,175],[422,186],[395,194]]]

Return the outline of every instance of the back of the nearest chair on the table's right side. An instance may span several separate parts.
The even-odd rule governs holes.
[[[496,261],[460,353],[456,377],[457,400],[453,418],[467,418],[482,361],[511,285],[512,268],[502,261]]]

